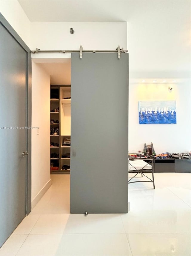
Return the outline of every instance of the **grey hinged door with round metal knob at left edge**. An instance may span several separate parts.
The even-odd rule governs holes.
[[[0,246],[26,215],[26,61],[0,25]]]

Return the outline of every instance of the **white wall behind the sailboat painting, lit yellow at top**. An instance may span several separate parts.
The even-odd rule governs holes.
[[[168,86],[173,87],[169,92]],[[143,150],[144,143],[153,142],[156,153],[190,152],[191,150],[191,86],[182,82],[133,83],[129,85],[129,152]],[[177,124],[139,124],[139,100],[176,100]]]

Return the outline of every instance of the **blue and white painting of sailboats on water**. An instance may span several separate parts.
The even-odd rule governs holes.
[[[139,101],[139,124],[176,124],[176,101]]]

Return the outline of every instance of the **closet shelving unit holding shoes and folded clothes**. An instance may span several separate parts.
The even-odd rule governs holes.
[[[70,97],[70,85],[51,85],[50,95],[54,95],[57,91],[57,99],[50,98],[50,109],[57,109],[59,112],[50,112],[50,120],[58,120],[59,123],[50,123],[52,127],[59,127],[59,135],[50,135],[50,143],[59,143],[59,146],[50,146],[50,154],[57,153],[59,158],[50,158],[50,163],[53,167],[58,167],[58,170],[51,170],[51,174],[70,174],[70,169],[63,170],[63,165],[70,166],[70,157],[62,157],[66,153],[70,153],[70,146],[63,146],[64,138],[70,138],[70,124],[71,124],[71,99],[64,99]],[[54,93],[53,93],[54,92]]]

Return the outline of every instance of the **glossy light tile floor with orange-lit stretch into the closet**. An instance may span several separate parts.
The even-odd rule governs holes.
[[[70,175],[52,175],[0,256],[191,256],[191,173],[155,173],[155,187],[129,184],[127,214],[84,217],[70,215]]]

